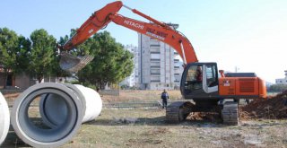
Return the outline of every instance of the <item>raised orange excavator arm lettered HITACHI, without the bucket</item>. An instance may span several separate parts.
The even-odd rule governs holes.
[[[117,12],[123,6],[150,22],[141,22],[118,14]],[[100,10],[93,13],[91,17],[76,31],[74,36],[65,43],[62,49],[70,50],[75,48],[77,45],[90,38],[91,35],[96,33],[98,30],[107,26],[109,22],[115,22],[116,24],[124,26],[130,30],[135,30],[153,39],[161,40],[177,50],[185,64],[198,61],[194,48],[183,34],[163,22],[158,22],[150,16],[127,7],[121,1],[107,4]]]

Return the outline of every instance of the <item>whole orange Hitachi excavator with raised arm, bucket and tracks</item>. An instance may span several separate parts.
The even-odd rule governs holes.
[[[126,7],[149,22],[127,18],[118,13]],[[144,13],[124,5],[121,1],[107,4],[94,12],[91,17],[76,30],[62,50],[70,50],[83,43],[109,22],[115,22],[130,30],[142,33],[152,39],[158,39],[174,48],[184,62],[180,91],[184,99],[193,101],[172,102],[166,109],[166,120],[178,123],[191,112],[216,111],[222,115],[225,124],[239,123],[239,100],[266,97],[265,81],[254,73],[230,73],[218,71],[214,62],[198,62],[196,52],[189,40],[178,30],[164,22],[159,22]],[[60,65],[63,69],[76,72],[92,60],[92,57],[71,57],[62,52]]]

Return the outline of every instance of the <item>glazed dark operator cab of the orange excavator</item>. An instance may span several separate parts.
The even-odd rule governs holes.
[[[208,99],[218,95],[216,63],[190,63],[186,66],[180,91],[185,99]]]

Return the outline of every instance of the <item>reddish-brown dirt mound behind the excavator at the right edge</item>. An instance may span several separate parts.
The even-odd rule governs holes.
[[[265,100],[253,100],[247,106],[241,107],[240,119],[249,118],[287,118],[287,91]]]

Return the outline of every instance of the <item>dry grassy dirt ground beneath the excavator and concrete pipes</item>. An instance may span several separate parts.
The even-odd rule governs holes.
[[[103,100],[135,100],[133,93],[103,96]],[[135,97],[156,100],[160,93],[137,91]],[[174,96],[172,100],[179,99],[177,92]],[[264,108],[265,102],[253,103],[254,109]],[[83,124],[73,140],[61,147],[287,147],[287,118],[242,118],[239,126],[224,126],[211,118],[170,125],[164,117],[164,109],[103,109],[99,118]],[[1,147],[30,146],[11,128]]]

